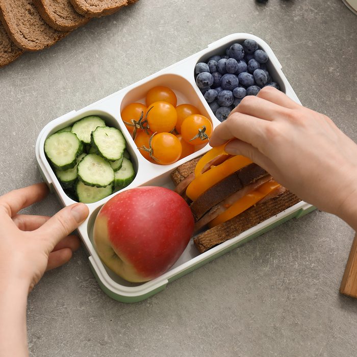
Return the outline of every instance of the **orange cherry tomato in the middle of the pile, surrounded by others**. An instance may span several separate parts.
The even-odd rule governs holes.
[[[153,133],[164,133],[173,130],[176,125],[177,114],[172,104],[166,101],[156,101],[148,107],[146,118]]]

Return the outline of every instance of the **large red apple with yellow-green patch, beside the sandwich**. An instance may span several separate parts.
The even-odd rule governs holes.
[[[100,209],[93,228],[100,259],[129,282],[146,282],[166,272],[193,233],[186,201],[163,187],[119,192]]]

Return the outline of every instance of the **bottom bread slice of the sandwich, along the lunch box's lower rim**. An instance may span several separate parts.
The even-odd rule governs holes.
[[[254,225],[296,205],[300,201],[293,193],[285,191],[276,197],[258,202],[238,216],[199,234],[193,239],[193,242],[198,251],[203,253],[228,239],[238,236]]]

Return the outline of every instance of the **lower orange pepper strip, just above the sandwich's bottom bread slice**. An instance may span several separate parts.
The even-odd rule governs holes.
[[[233,203],[233,205],[230,208],[228,208],[219,216],[214,218],[208,224],[208,226],[212,228],[215,225],[226,222],[227,220],[230,220],[231,218],[238,216],[242,212],[246,211],[248,208],[255,205],[257,202],[259,202],[261,199],[263,199],[265,196],[267,196],[270,192],[274,191],[279,186],[280,185],[273,180],[266,182],[256,190],[248,193],[247,195],[245,195],[244,197]]]

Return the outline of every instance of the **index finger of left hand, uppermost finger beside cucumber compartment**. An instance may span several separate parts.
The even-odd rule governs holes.
[[[10,191],[0,197],[0,207],[4,208],[10,217],[13,217],[18,211],[33,203],[41,201],[48,194],[48,188],[45,183],[39,183],[28,187]]]

